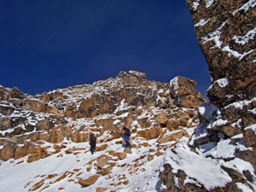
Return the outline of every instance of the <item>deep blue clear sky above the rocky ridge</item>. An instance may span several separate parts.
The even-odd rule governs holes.
[[[0,67],[0,84],[31,95],[129,70],[210,84],[185,0],[2,0]]]

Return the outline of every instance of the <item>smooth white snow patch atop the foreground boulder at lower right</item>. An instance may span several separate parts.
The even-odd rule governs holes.
[[[163,160],[164,164],[172,166],[173,173],[182,170],[188,177],[194,178],[197,183],[203,184],[208,190],[224,187],[232,180],[215,160],[191,152],[185,143],[178,143],[175,148],[167,150]]]

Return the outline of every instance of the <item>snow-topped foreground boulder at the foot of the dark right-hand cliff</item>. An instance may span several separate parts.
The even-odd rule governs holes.
[[[195,153],[185,143],[166,151],[161,166],[161,191],[253,191],[243,174],[218,160]]]

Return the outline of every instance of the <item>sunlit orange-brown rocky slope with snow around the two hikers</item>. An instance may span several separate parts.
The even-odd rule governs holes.
[[[130,71],[37,96],[1,86],[0,190],[159,191],[166,148],[189,142],[199,125],[206,100],[195,84],[183,77],[163,84]],[[122,148],[124,126],[131,150]]]

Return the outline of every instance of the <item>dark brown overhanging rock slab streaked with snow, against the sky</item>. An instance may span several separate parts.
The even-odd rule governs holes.
[[[254,0],[187,0],[212,86],[207,96],[219,108],[252,99],[256,90]]]

